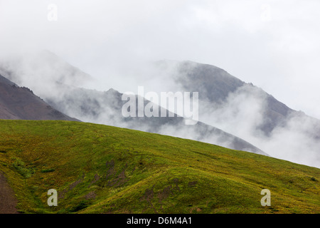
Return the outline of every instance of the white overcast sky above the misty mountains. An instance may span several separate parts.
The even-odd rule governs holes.
[[[317,0],[0,0],[0,51],[48,49],[121,92],[143,85],[110,68],[208,63],[320,118],[319,12]]]

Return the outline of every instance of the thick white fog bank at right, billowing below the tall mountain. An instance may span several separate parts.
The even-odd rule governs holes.
[[[320,167],[320,121],[299,113],[265,135],[259,128],[267,112],[265,94],[259,88],[252,93],[247,87],[231,93],[218,108],[203,105],[206,112],[201,112],[201,120],[247,140],[272,157]]]

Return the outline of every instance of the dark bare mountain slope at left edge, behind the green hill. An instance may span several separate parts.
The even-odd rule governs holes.
[[[71,120],[26,87],[19,87],[0,75],[0,119],[11,120]]]

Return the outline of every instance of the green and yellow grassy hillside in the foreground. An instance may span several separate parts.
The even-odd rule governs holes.
[[[193,140],[0,120],[0,171],[31,213],[319,213],[320,170]],[[58,190],[58,207],[47,191]],[[271,207],[262,207],[262,189]]]

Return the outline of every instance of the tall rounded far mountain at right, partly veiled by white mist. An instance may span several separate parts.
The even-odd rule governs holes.
[[[203,123],[251,142],[273,157],[320,167],[320,120],[216,66],[158,61],[154,68],[154,75],[166,76],[175,90],[199,92]]]

